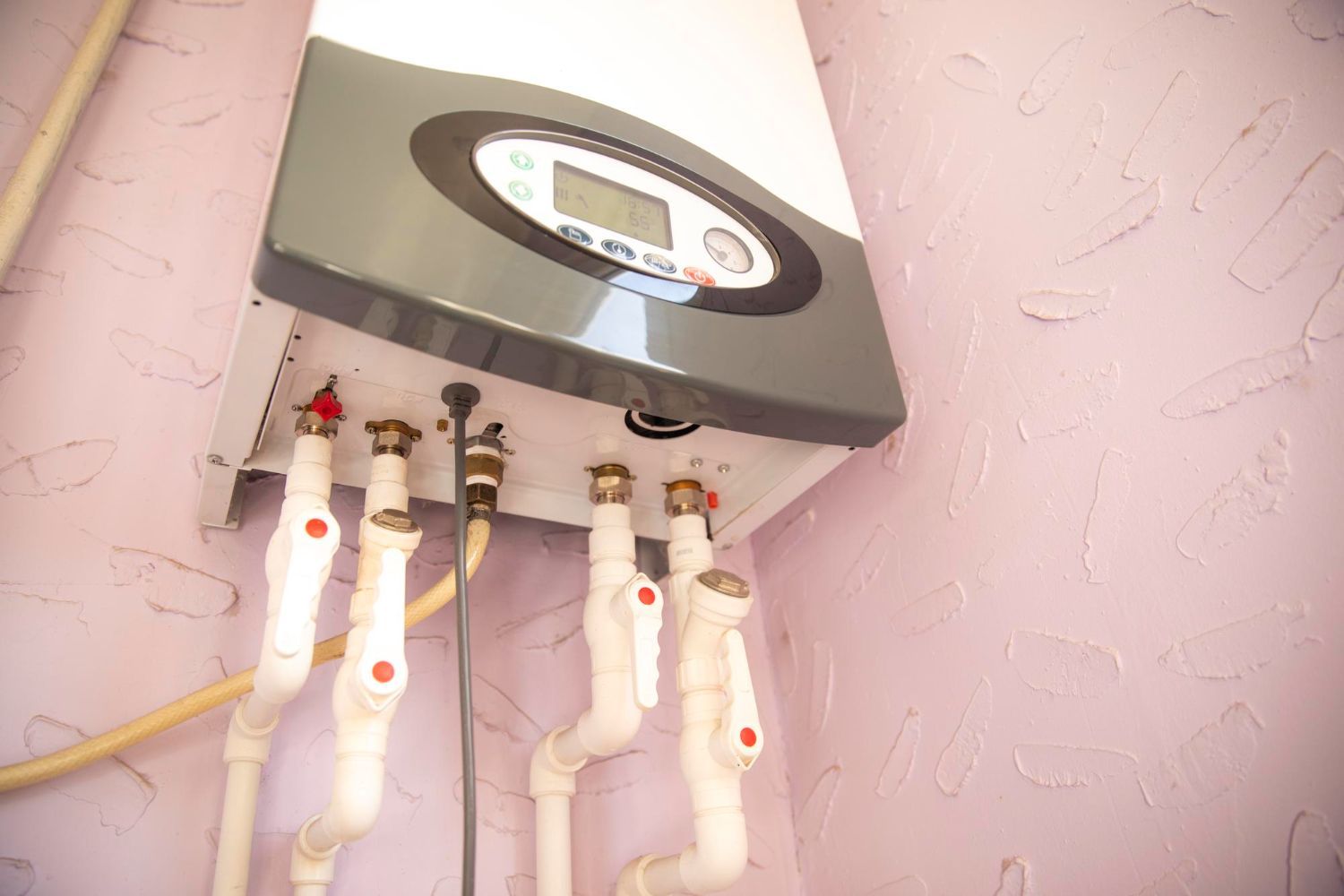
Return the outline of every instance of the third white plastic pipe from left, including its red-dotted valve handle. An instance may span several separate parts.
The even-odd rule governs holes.
[[[528,793],[536,801],[536,893],[573,896],[570,799],[589,759],[634,740],[657,704],[657,631],[663,595],[634,568],[630,508],[598,504],[589,533],[589,645],[593,705],[574,725],[550,732],[532,754]]]

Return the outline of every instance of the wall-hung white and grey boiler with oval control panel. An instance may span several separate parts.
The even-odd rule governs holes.
[[[200,516],[237,525],[329,375],[349,418],[425,433],[439,391],[504,424],[500,509],[583,525],[585,466],[714,492],[731,547],[880,442],[905,407],[806,39],[789,0],[317,0],[223,394]]]

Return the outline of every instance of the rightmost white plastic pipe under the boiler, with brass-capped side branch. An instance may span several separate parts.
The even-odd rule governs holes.
[[[737,626],[751,598],[722,594],[699,580],[712,564],[706,521],[698,514],[672,520],[668,557],[671,595],[677,618],[677,689],[681,693],[681,776],[691,790],[695,842],[677,856],[642,856],[629,862],[617,880],[617,896],[712,893],[727,889],[746,870],[747,829],[742,810],[742,772],[759,754],[753,723],[750,746],[741,731],[726,725],[730,695],[754,719],[754,697],[746,676]],[[741,664],[731,680],[730,669]]]

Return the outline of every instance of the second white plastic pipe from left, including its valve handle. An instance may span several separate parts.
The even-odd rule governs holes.
[[[406,563],[421,531],[379,525],[382,510],[406,512],[406,458],[374,457],[359,529],[359,568],[351,596],[345,658],[332,688],[336,767],[327,807],[298,829],[289,881],[296,895],[325,893],[341,844],[367,836],[383,803],[387,739],[406,693]]]

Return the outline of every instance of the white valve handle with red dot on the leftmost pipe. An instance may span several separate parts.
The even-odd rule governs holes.
[[[325,508],[289,521],[289,560],[276,614],[276,653],[293,657],[317,634],[317,598],[340,547],[340,525]]]

